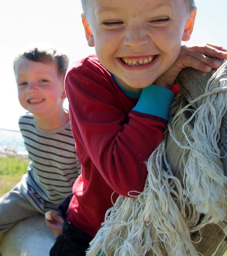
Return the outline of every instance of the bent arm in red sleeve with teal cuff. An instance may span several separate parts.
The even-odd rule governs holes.
[[[109,81],[103,77],[104,85],[100,85],[92,80],[88,72],[70,71],[65,81],[78,159],[88,169],[94,164],[118,194],[129,196],[129,191],[143,191],[147,177],[144,162],[163,138],[174,93],[155,85],[144,88],[128,114],[128,110],[119,108],[124,102],[117,103],[120,99],[113,96],[111,90],[115,88],[108,87]],[[154,105],[152,112],[149,108]],[[162,117],[156,115],[160,110]]]

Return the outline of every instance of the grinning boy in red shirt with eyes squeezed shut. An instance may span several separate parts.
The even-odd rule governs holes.
[[[50,255],[85,255],[111,198],[143,190],[144,162],[162,140],[178,73],[220,67],[203,54],[227,58],[219,46],[181,46],[194,26],[192,1],[84,0],[82,7],[97,57],[72,64],[65,79],[82,175],[69,204],[60,206],[63,234]]]

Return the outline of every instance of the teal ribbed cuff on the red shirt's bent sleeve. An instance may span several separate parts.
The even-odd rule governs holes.
[[[165,87],[149,85],[142,89],[141,96],[133,110],[168,120],[174,96],[175,94]]]

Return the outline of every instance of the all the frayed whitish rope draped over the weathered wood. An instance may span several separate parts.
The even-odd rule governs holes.
[[[182,99],[180,94],[175,97],[168,129],[146,163],[148,175],[143,192],[134,198],[119,196],[107,210],[88,256],[98,252],[103,256],[145,256],[147,252],[195,256],[200,253],[193,246],[191,232],[215,223],[227,234],[227,177],[218,147],[221,121],[227,111],[227,60],[209,79],[203,95],[184,108],[180,107]],[[195,111],[190,109],[199,99],[202,105]],[[177,141],[174,127],[185,111],[192,114],[182,127],[184,145]],[[194,128],[187,135],[185,128],[192,120]],[[168,133],[183,149],[183,187],[167,162]]]

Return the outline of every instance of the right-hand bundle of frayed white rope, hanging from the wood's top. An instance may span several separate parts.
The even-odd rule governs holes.
[[[208,214],[210,223],[217,223],[226,218],[227,177],[220,157],[218,142],[222,117],[227,110],[227,61],[208,80],[205,93],[183,108],[173,119],[174,124],[184,111],[199,99],[202,105],[192,114],[182,127],[187,145],[182,145],[175,138],[171,125],[169,132],[181,148],[189,151],[184,162],[185,193],[196,210]],[[195,119],[190,138],[185,126]],[[184,157],[184,154],[183,154]]]

